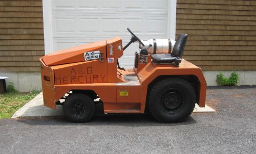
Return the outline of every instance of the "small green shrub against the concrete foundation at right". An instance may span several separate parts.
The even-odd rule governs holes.
[[[239,74],[236,72],[232,72],[229,78],[225,78],[223,73],[219,73],[217,75],[217,80],[216,82],[220,86],[234,86],[238,83],[239,81]]]

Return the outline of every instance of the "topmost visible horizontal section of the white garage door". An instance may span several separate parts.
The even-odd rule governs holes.
[[[53,11],[136,11],[136,12],[167,12],[166,0],[55,0],[52,1]]]

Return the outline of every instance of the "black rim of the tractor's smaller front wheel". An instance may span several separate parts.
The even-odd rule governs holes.
[[[76,117],[83,117],[86,115],[86,104],[83,101],[75,101],[72,106],[72,113]]]

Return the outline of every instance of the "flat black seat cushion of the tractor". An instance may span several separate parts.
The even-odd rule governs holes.
[[[154,54],[151,55],[153,62],[155,63],[177,63],[181,62],[180,58],[172,57],[171,54]]]

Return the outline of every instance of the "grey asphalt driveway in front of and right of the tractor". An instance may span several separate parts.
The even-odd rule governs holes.
[[[150,115],[2,119],[0,153],[255,153],[256,88],[208,89],[207,104],[217,113],[169,124]]]

